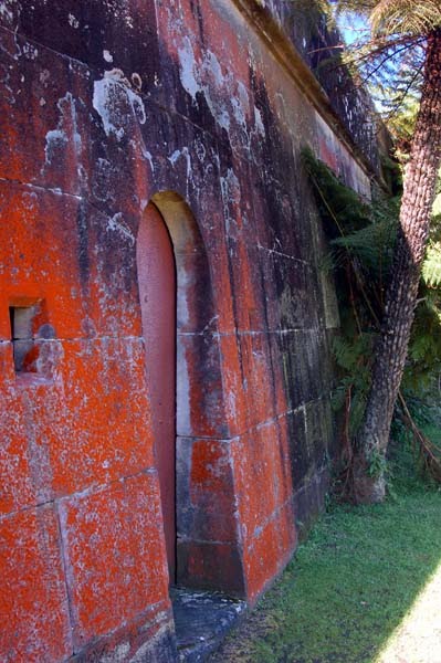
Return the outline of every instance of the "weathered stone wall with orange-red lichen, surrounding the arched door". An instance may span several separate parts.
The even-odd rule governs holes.
[[[338,314],[301,149],[365,196],[372,169],[254,10],[0,2],[2,661],[175,657],[151,206],[176,262],[177,581],[253,603],[323,505]]]

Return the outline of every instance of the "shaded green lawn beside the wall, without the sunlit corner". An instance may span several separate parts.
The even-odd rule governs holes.
[[[441,492],[396,483],[385,504],[333,506],[214,660],[375,661],[441,561]]]

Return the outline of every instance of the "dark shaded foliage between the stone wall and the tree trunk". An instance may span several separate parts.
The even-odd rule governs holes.
[[[374,345],[381,316],[381,293],[397,234],[398,203],[379,194],[371,202],[339,181],[311,151],[303,155],[329,238],[342,318],[333,341],[339,382],[333,407],[345,413],[354,438],[363,421],[371,382]]]

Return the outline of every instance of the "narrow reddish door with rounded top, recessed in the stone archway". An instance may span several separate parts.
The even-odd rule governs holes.
[[[153,203],[139,227],[137,269],[167,559],[170,582],[175,582],[176,266],[170,235]]]

